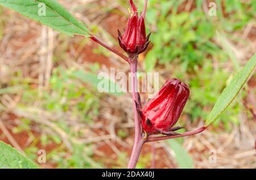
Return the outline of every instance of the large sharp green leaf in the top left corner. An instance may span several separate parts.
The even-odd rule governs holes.
[[[68,36],[89,37],[89,30],[55,0],[0,0],[0,6],[47,25]]]

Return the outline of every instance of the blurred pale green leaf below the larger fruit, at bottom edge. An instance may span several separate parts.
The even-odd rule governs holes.
[[[182,145],[175,139],[167,140],[168,145],[170,145],[172,151],[175,153],[177,164],[180,169],[193,169],[194,163],[192,157],[187,151],[182,147]]]

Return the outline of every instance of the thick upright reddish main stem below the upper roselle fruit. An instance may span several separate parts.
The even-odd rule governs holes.
[[[139,155],[138,153],[138,146],[139,142],[141,141],[141,121],[138,118],[138,112],[135,102],[139,102],[137,96],[137,63],[138,57],[134,57],[133,59],[130,58],[130,72],[131,72],[131,85],[132,85],[132,95],[133,95],[133,110],[134,110],[134,123],[135,123],[135,135],[134,135],[134,145],[133,151],[131,152],[131,158],[129,161],[128,168],[133,169],[135,168]],[[143,144],[141,144],[143,145]],[[139,151],[140,153],[141,151]]]

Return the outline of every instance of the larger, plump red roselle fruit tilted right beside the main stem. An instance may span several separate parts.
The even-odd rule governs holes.
[[[168,79],[160,91],[142,110],[138,109],[143,130],[147,135],[175,135],[182,127],[173,127],[188,100],[189,88],[179,79]]]

